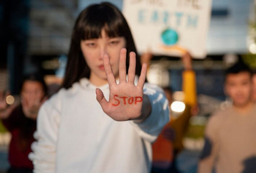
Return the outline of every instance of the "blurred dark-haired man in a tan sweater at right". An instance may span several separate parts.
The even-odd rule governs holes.
[[[252,74],[243,61],[226,70],[224,90],[232,100],[226,110],[210,116],[198,172],[256,172],[256,105]]]

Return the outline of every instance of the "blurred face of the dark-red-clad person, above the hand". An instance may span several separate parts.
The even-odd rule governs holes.
[[[42,84],[33,80],[27,80],[23,83],[22,92],[20,94],[23,98],[38,102],[45,96]]]

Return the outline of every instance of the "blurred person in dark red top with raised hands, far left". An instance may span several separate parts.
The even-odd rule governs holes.
[[[47,85],[40,74],[24,76],[20,90],[20,104],[8,105],[8,92],[0,92],[0,118],[11,133],[9,144],[8,173],[32,172],[33,164],[28,159],[31,152],[33,133],[36,130],[36,118],[39,107],[47,99]]]

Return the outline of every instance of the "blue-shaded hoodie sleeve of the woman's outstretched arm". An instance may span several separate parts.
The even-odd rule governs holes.
[[[154,84],[145,83],[143,93],[150,99],[151,114],[143,122],[131,123],[143,139],[154,142],[163,126],[169,122],[168,100],[163,90]]]

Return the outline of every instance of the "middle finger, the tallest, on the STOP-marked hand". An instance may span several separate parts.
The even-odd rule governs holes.
[[[123,48],[120,51],[119,60],[119,83],[126,82],[126,49]]]

